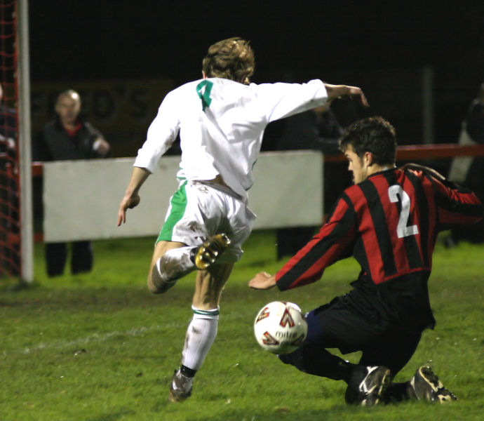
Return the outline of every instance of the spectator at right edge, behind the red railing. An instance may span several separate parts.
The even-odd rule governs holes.
[[[484,83],[481,83],[477,98],[471,102],[466,119],[462,122],[459,145],[484,145]],[[452,159],[449,180],[468,187],[480,201],[484,201],[484,157],[459,156]],[[456,246],[461,240],[483,243],[484,222],[452,229],[445,246]]]

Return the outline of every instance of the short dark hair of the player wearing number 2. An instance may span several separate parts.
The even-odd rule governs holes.
[[[382,117],[370,117],[351,124],[344,131],[339,144],[342,152],[351,145],[360,158],[365,152],[371,152],[378,165],[395,163],[395,128]]]

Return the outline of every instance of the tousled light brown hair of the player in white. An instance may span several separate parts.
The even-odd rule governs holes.
[[[202,62],[207,77],[223,77],[249,83],[255,68],[255,58],[248,41],[238,36],[218,41],[208,47]]]

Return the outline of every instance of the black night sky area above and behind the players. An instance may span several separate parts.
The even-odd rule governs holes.
[[[32,84],[198,79],[213,42],[249,39],[253,81],[361,86],[401,143],[422,142],[422,69],[434,141],[456,142],[484,81],[483,1],[30,1]],[[161,98],[159,98],[161,100]],[[156,112],[156,110],[154,110]],[[142,142],[143,139],[140,139]]]

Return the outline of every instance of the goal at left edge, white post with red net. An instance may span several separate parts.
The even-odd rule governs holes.
[[[28,0],[0,0],[0,277],[33,280]]]

